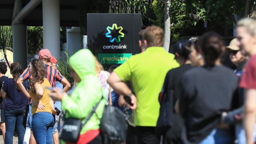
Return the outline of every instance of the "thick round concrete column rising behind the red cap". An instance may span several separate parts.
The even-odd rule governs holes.
[[[43,48],[59,59],[60,24],[59,0],[43,0]]]

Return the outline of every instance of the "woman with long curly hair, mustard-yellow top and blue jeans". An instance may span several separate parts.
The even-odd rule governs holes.
[[[54,103],[48,93],[51,87],[48,79],[45,78],[45,66],[39,59],[33,59],[29,66],[29,72],[33,79],[30,81],[30,96],[32,102],[32,129],[37,144],[52,144],[52,129],[55,118],[52,114],[54,111]],[[37,105],[41,101],[45,105],[44,110],[40,110]]]

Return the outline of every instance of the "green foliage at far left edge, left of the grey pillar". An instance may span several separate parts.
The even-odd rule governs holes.
[[[11,26],[0,26],[0,49],[12,50],[13,33]]]

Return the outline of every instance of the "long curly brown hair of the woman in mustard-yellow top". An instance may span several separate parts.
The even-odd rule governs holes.
[[[35,83],[43,83],[45,79],[45,65],[39,59],[32,59],[31,65],[33,66],[33,71],[35,74],[33,75],[33,79],[30,81],[30,90],[35,92]]]

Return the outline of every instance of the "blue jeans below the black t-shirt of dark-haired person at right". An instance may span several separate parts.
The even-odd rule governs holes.
[[[234,144],[232,134],[230,129],[215,128],[200,144]]]

